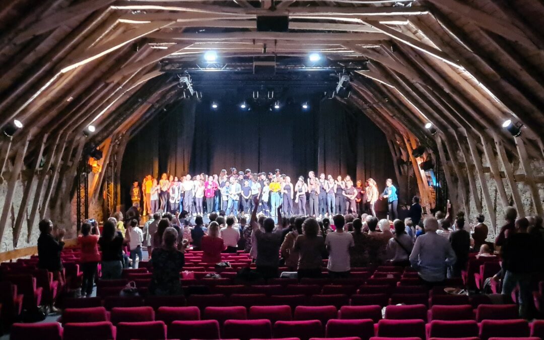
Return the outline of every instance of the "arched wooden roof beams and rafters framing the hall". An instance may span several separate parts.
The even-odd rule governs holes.
[[[289,32],[257,32],[261,15],[289,16]],[[267,54],[369,60],[342,101],[385,132],[399,181],[406,163],[421,175],[424,201],[412,154],[420,144],[441,163],[456,210],[473,202],[496,226],[491,176],[498,204],[543,215],[542,176],[531,165],[544,160],[542,17],[544,3],[532,0],[4,0],[0,126],[23,127],[0,145],[0,239],[14,205],[15,245],[27,216],[30,234],[38,217],[67,209],[85,145],[103,151],[104,168],[180,99],[165,64],[209,50],[224,60],[262,55],[264,45]],[[520,137],[505,120],[523,125]],[[84,134],[89,125],[96,131]],[[532,207],[523,207],[518,182]]]

